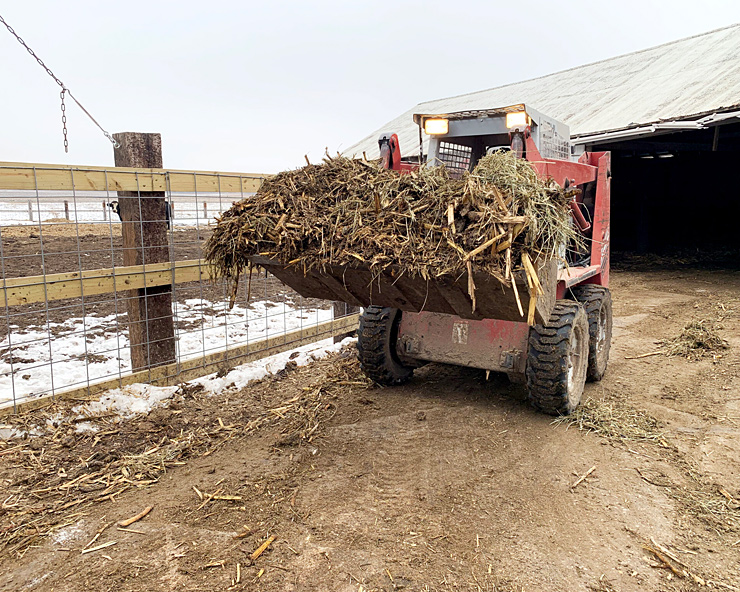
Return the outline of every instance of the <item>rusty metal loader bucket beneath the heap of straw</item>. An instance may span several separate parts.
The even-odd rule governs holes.
[[[354,306],[370,305],[398,308],[408,312],[437,312],[463,319],[499,319],[525,322],[529,291],[524,273],[516,274],[519,299],[524,316],[519,312],[512,288],[502,285],[486,273],[474,273],[476,305],[468,294],[468,276],[443,276],[433,280],[409,277],[396,268],[374,276],[368,266],[327,267],[307,274],[294,266],[285,266],[266,257],[252,257],[252,263],[264,267],[305,298],[346,302]],[[555,306],[557,264],[555,261],[535,264],[544,294],[537,297],[535,322],[543,323]]]

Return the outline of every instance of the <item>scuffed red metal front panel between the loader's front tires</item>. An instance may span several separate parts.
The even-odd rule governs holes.
[[[528,336],[529,326],[521,322],[405,312],[397,347],[402,357],[521,374]]]

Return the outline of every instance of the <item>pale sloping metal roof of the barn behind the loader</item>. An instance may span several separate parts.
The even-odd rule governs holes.
[[[650,49],[466,95],[419,103],[344,151],[378,155],[381,132],[419,151],[414,113],[527,103],[570,126],[574,141],[740,107],[740,23]],[[425,149],[426,152],[426,149]]]

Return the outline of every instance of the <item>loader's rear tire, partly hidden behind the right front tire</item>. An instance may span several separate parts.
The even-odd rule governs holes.
[[[571,290],[588,315],[588,374],[597,382],[604,377],[612,344],[612,295],[608,288],[586,284]]]

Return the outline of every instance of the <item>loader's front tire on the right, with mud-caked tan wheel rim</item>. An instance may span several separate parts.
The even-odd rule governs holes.
[[[550,319],[529,331],[529,401],[549,415],[569,415],[581,402],[588,368],[588,319],[578,302],[558,300]]]

